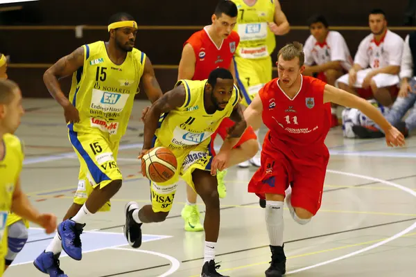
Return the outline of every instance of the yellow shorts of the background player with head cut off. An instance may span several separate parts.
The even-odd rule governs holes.
[[[241,104],[247,107],[264,84],[272,80],[272,58],[270,56],[264,59],[234,57],[234,68],[243,94]]]

